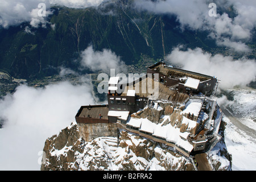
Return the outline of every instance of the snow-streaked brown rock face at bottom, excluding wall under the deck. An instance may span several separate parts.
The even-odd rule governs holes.
[[[157,142],[121,130],[86,142],[76,123],[46,140],[41,170],[193,170],[192,163]]]

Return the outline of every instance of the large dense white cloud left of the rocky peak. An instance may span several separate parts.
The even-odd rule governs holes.
[[[18,86],[0,100],[0,170],[40,170],[44,142],[75,121],[81,105],[94,104],[88,84],[60,82],[45,89]]]

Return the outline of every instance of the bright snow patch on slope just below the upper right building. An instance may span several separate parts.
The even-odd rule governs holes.
[[[201,100],[189,100],[185,105],[185,109],[181,112],[181,114],[190,113],[198,117],[202,104],[203,102]]]

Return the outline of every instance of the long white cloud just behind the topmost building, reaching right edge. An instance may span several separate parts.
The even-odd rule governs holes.
[[[255,60],[245,58],[234,60],[232,56],[212,55],[201,48],[188,49],[188,51],[175,48],[167,56],[167,60],[189,71],[216,76],[221,80],[219,87],[222,89],[231,89],[236,85],[246,86],[251,81],[255,81],[256,77]]]

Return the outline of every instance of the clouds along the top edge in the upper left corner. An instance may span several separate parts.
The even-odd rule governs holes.
[[[98,6],[106,0],[1,0],[0,6],[0,26],[9,28],[18,26],[23,22],[30,22],[32,27],[42,27],[48,23],[46,18],[52,14],[49,8],[52,5],[67,6],[73,8],[86,8]],[[38,12],[42,10],[39,3],[46,5],[46,16],[39,16]]]

